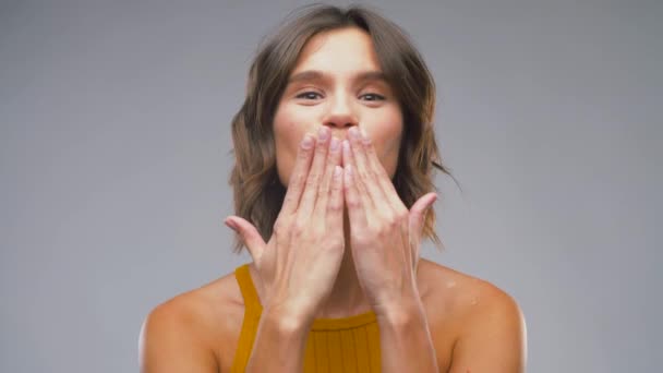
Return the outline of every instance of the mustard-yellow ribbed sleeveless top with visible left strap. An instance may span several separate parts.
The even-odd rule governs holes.
[[[263,306],[249,264],[238,267],[234,277],[244,298],[244,320],[231,372],[240,373],[244,372],[251,357]],[[374,312],[313,322],[304,351],[305,373],[377,373],[379,361],[379,329]]]

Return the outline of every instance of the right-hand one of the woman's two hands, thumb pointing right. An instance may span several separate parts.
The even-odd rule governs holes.
[[[379,316],[420,301],[415,278],[421,236],[437,194],[424,194],[408,210],[371,140],[355,127],[348,132],[342,156],[350,245],[359,281]]]

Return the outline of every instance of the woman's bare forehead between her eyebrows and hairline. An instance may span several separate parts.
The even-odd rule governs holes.
[[[330,73],[381,71],[371,36],[359,27],[320,33],[302,48],[292,74],[303,70]]]

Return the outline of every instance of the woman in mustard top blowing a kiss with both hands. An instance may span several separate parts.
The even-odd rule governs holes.
[[[434,84],[364,8],[305,8],[260,51],[232,122],[253,262],[147,316],[165,372],[522,372],[525,322],[491,284],[419,258],[433,231]],[[265,240],[267,242],[265,242]]]

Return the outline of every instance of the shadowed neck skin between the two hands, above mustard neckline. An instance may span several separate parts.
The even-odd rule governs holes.
[[[321,304],[316,318],[348,317],[371,311],[354,269],[347,210],[343,213],[343,237],[346,246],[338,276],[329,297]]]

